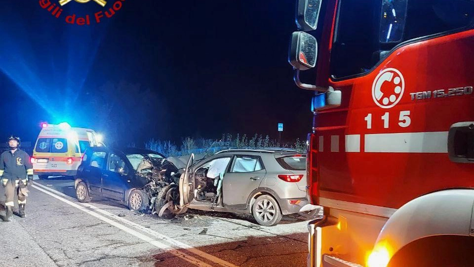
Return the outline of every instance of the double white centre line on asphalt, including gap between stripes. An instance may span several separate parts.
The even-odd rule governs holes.
[[[171,237],[168,237],[168,236],[166,236],[166,235],[163,235],[163,234],[161,234],[161,233],[158,233],[158,232],[156,232],[156,231],[154,231],[154,230],[152,230],[152,229],[149,229],[149,228],[147,228],[147,227],[144,227],[144,226],[142,226],[142,225],[140,225],[140,224],[138,224],[138,223],[133,223],[133,222],[131,222],[131,221],[128,221],[128,220],[126,220],[126,219],[123,219],[123,218],[121,218],[121,217],[118,217],[117,215],[114,215],[114,214],[112,214],[112,213],[109,213],[109,212],[107,212],[107,211],[104,211],[104,210],[102,210],[102,209],[99,209],[99,208],[97,208],[97,207],[95,207],[95,206],[93,206],[93,205],[90,205],[90,203],[86,203],[86,204],[84,204],[84,203],[79,203],[79,202],[77,202],[76,199],[74,199],[74,198],[72,198],[72,197],[70,197],[70,196],[68,196],[68,195],[65,195],[65,194],[63,194],[63,193],[61,193],[61,192],[58,192],[58,191],[56,191],[56,190],[54,190],[54,189],[51,189],[51,188],[49,188],[49,187],[47,187],[47,186],[44,186],[44,185],[42,185],[42,184],[36,183],[35,185],[33,185],[33,187],[36,188],[36,189],[38,189],[38,190],[40,190],[40,191],[43,192],[43,193],[46,193],[46,194],[51,195],[52,197],[54,197],[54,198],[56,198],[56,199],[59,199],[59,200],[63,201],[63,202],[65,202],[65,203],[67,203],[67,204],[69,204],[69,205],[71,205],[71,206],[73,206],[73,207],[75,207],[75,208],[77,208],[77,209],[79,209],[79,210],[85,212],[85,213],[88,213],[89,215],[92,215],[92,216],[94,216],[94,217],[96,217],[96,218],[98,218],[98,219],[100,219],[100,220],[102,220],[102,221],[104,221],[104,222],[106,222],[106,223],[109,223],[109,224],[111,224],[111,225],[113,225],[113,226],[116,226],[116,227],[118,227],[119,229],[121,229],[121,230],[123,230],[123,231],[125,231],[125,232],[128,232],[128,233],[130,233],[130,234],[132,234],[132,235],[135,235],[136,237],[138,237],[138,238],[140,238],[140,239],[142,239],[142,240],[144,240],[144,241],[147,241],[147,242],[149,242],[150,244],[152,244],[152,245],[154,245],[154,246],[156,246],[156,247],[158,247],[158,248],[165,249],[165,250],[170,250],[170,251],[168,251],[169,253],[171,253],[171,254],[173,254],[173,255],[175,255],[175,256],[177,256],[177,257],[180,257],[180,258],[186,260],[187,262],[192,263],[192,264],[194,264],[194,265],[196,265],[196,266],[212,267],[212,266],[210,266],[210,265],[208,265],[208,264],[206,264],[206,263],[204,263],[204,262],[202,262],[202,261],[197,260],[196,258],[194,258],[194,257],[192,257],[192,256],[189,256],[189,255],[187,255],[187,254],[185,254],[185,253],[183,253],[183,252],[174,250],[174,248],[172,248],[172,247],[170,247],[170,246],[168,246],[168,245],[166,245],[166,244],[160,243],[160,242],[158,242],[157,240],[155,240],[155,239],[153,239],[153,238],[151,238],[151,237],[149,237],[149,236],[147,236],[147,235],[144,235],[144,234],[142,234],[142,233],[140,233],[140,232],[137,232],[137,231],[135,231],[135,230],[133,230],[133,229],[131,229],[131,228],[129,228],[129,227],[127,227],[127,226],[121,224],[121,223],[127,224],[127,225],[129,225],[129,226],[131,226],[131,227],[133,227],[133,228],[139,229],[139,230],[141,230],[141,231],[143,231],[143,232],[145,232],[145,233],[147,233],[147,234],[149,234],[149,235],[152,235],[152,236],[154,236],[154,237],[158,237],[159,239],[161,239],[161,240],[163,240],[163,241],[166,241],[166,242],[168,242],[168,243],[174,245],[174,246],[177,247],[177,248],[185,249],[185,250],[187,250],[187,251],[189,251],[189,252],[191,252],[191,253],[193,253],[193,254],[196,254],[197,256],[199,256],[199,257],[201,257],[201,258],[204,258],[204,259],[206,259],[206,260],[209,260],[209,261],[211,261],[211,262],[213,262],[213,263],[215,263],[215,264],[218,264],[218,265],[220,265],[220,266],[223,266],[223,267],[237,267],[237,266],[234,265],[234,264],[231,264],[231,263],[226,262],[226,261],[224,261],[224,260],[222,260],[222,259],[220,259],[220,258],[217,258],[217,257],[212,256],[212,255],[210,255],[210,254],[207,254],[207,253],[205,253],[205,252],[203,252],[203,251],[200,251],[200,250],[198,250],[198,249],[192,247],[191,245],[185,244],[185,243],[180,242],[180,241],[178,241],[178,240],[175,240],[175,239],[173,239],[173,238],[171,238]],[[92,209],[92,210],[94,210],[94,211],[91,211],[91,210],[86,209],[86,208],[90,208],[90,209]],[[100,213],[100,214],[99,214],[99,213]],[[105,216],[110,217],[110,218],[113,218],[114,220],[119,221],[119,222],[121,222],[121,223],[118,223],[118,222],[116,222],[116,221],[112,221],[111,219],[106,218]]]

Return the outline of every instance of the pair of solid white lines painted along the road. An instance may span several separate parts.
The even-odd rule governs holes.
[[[159,239],[164,240],[164,241],[166,241],[166,242],[168,242],[168,243],[170,243],[170,244],[173,244],[173,245],[175,245],[175,246],[178,247],[178,248],[185,249],[185,250],[187,250],[187,251],[189,251],[189,252],[191,252],[191,253],[196,254],[196,255],[199,256],[199,257],[202,257],[202,258],[204,258],[204,259],[207,259],[207,260],[209,260],[209,261],[211,261],[211,262],[213,262],[213,263],[216,263],[216,264],[218,264],[218,265],[220,265],[220,266],[224,266],[224,267],[237,267],[237,266],[234,265],[234,264],[231,264],[231,263],[226,262],[226,261],[224,261],[224,260],[222,260],[222,259],[219,259],[219,258],[217,258],[217,257],[215,257],[215,256],[212,256],[212,255],[207,254],[207,253],[205,253],[205,252],[203,252],[203,251],[200,251],[200,250],[198,250],[198,249],[192,247],[191,245],[188,245],[188,244],[186,244],[186,243],[180,242],[180,241],[175,240],[175,239],[173,239],[173,238],[171,238],[171,237],[168,237],[168,236],[166,236],[166,235],[163,235],[163,234],[161,234],[161,233],[158,233],[158,232],[156,232],[156,231],[154,231],[154,230],[152,230],[152,229],[149,229],[149,228],[147,228],[147,227],[144,227],[144,226],[142,226],[142,225],[140,225],[140,224],[138,224],[138,223],[133,223],[133,222],[131,222],[131,221],[128,221],[128,220],[126,220],[126,219],[123,219],[122,217],[118,217],[118,216],[115,215],[115,214],[112,214],[112,213],[110,213],[110,212],[107,212],[107,211],[104,211],[104,210],[102,210],[102,209],[99,209],[99,208],[97,208],[97,207],[91,205],[90,203],[80,203],[80,202],[77,202],[76,199],[74,199],[74,198],[72,198],[72,197],[70,197],[70,196],[68,196],[68,195],[65,195],[65,194],[63,194],[63,193],[61,193],[61,192],[58,192],[58,191],[56,191],[56,190],[54,190],[54,189],[52,189],[52,188],[46,187],[46,186],[44,186],[44,185],[42,185],[42,184],[39,184],[39,183],[35,183],[34,187],[35,187],[36,185],[38,185],[38,186],[40,186],[40,187],[42,187],[42,188],[44,188],[44,189],[46,189],[46,190],[48,190],[48,191],[54,192],[55,194],[60,195],[60,196],[62,196],[62,197],[64,197],[64,198],[71,199],[72,201],[75,201],[76,203],[74,203],[74,202],[72,202],[72,201],[70,201],[70,200],[64,199],[65,201],[71,202],[72,204],[74,204],[74,205],[76,205],[76,206],[81,205],[81,206],[84,206],[84,207],[91,208],[91,209],[93,209],[93,210],[96,211],[96,212],[99,212],[99,213],[101,213],[101,214],[103,214],[103,215],[105,215],[105,216],[114,218],[115,220],[120,221],[120,222],[122,222],[122,223],[126,223],[126,224],[128,224],[129,226],[132,226],[132,227],[134,227],[134,228],[140,229],[140,230],[143,231],[143,232],[146,232],[146,233],[148,233],[148,234],[150,234],[150,235],[153,235],[153,236],[155,236],[155,237],[158,237]],[[35,187],[35,188],[36,188],[36,189],[39,189],[40,191],[43,191],[41,188],[38,188],[38,187]],[[49,192],[46,192],[46,193],[50,194]],[[56,197],[56,196],[54,196],[54,197]],[[56,197],[56,198],[58,198],[58,197]],[[61,200],[61,199],[60,199],[60,200]],[[67,202],[66,202],[66,203],[67,203]],[[68,204],[69,204],[69,203],[68,203]],[[78,204],[79,204],[79,205],[78,205]],[[79,206],[79,208],[80,208],[81,210],[84,209],[84,210],[86,210],[87,212],[92,212],[92,211],[89,211],[89,210],[87,210],[87,209],[85,209],[84,207],[81,207],[81,206]],[[94,213],[94,212],[92,212],[92,213]],[[96,215],[103,217],[103,216],[100,215],[100,214],[96,214]],[[100,219],[100,218],[99,218],[99,219]],[[104,219],[111,221],[110,219],[107,219],[107,218],[105,218],[105,217],[104,217]],[[114,222],[114,221],[112,221],[112,222],[113,222],[113,223],[116,223],[116,222]],[[117,223],[117,224],[119,224],[119,223]],[[113,224],[113,225],[114,225],[114,224]],[[119,224],[119,225],[122,225],[122,224]],[[115,225],[114,225],[114,226],[115,226]],[[123,225],[122,225],[122,226],[123,226]],[[126,227],[126,226],[123,226],[123,227]],[[126,227],[126,228],[128,228],[128,227]],[[130,229],[130,228],[128,228],[128,229]],[[130,230],[134,231],[133,229],[130,229]],[[145,241],[146,241],[146,240],[145,240]],[[155,241],[156,241],[156,240],[155,240]],[[160,243],[160,244],[161,244],[161,243]],[[164,245],[164,244],[162,244],[162,245]],[[164,246],[166,246],[166,245],[164,245]],[[169,246],[168,246],[168,248],[169,248],[169,249],[172,249],[172,248],[170,248]],[[181,253],[181,252],[180,252],[180,253]],[[184,254],[184,253],[181,253],[181,254]],[[184,254],[184,255],[186,255],[186,254]],[[176,256],[178,256],[178,255],[176,255]],[[188,255],[186,255],[186,256],[188,256]],[[190,257],[190,256],[188,256],[188,257]],[[192,258],[192,257],[191,257],[191,258]],[[193,258],[193,259],[194,259],[194,258]],[[197,259],[195,259],[195,260],[198,261]],[[195,264],[194,262],[191,262],[191,263]],[[205,263],[204,263],[204,264],[205,264]],[[202,266],[202,265],[198,265],[198,266]],[[206,266],[208,266],[208,265],[206,265]]]

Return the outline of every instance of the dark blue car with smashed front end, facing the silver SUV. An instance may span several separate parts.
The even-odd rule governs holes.
[[[158,152],[138,148],[90,147],[75,182],[76,198],[107,198],[145,212],[158,191],[175,182],[178,170]]]

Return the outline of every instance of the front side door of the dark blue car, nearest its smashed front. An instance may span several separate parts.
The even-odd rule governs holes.
[[[116,153],[110,153],[107,167],[102,173],[102,194],[117,200],[124,199],[128,183],[128,167],[125,160]]]

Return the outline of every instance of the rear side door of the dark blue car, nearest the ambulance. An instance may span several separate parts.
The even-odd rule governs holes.
[[[102,187],[102,171],[105,167],[106,152],[94,151],[89,160],[89,165],[86,166],[84,172],[89,183],[90,192],[93,194],[101,194]]]

